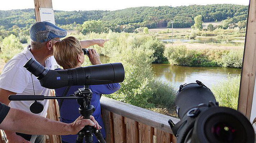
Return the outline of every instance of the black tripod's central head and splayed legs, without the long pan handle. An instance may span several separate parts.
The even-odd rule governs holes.
[[[80,105],[79,114],[81,114],[85,119],[90,119],[90,115],[95,111],[93,105],[91,105],[92,92],[89,89],[88,85],[85,85],[84,88],[79,88],[75,92],[76,97],[83,97],[81,99],[77,99],[77,103]],[[92,133],[96,136],[100,143],[106,143],[100,130],[86,125],[82,130],[80,130],[77,134],[76,143],[82,143],[83,138],[86,143],[92,143],[93,136]]]

